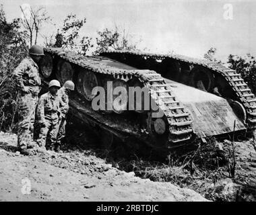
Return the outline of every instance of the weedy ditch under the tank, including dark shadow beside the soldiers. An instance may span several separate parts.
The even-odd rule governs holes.
[[[142,179],[170,182],[180,187],[193,189],[207,199],[213,201],[256,201],[256,177],[253,165],[256,167],[256,153],[253,139],[236,140],[236,169],[232,177],[232,141],[208,140],[203,146],[195,144],[183,155],[160,157],[148,146],[134,150],[127,144],[112,145],[105,148],[98,135],[87,126],[69,122],[64,151],[90,150],[96,157],[105,159],[107,163],[120,170],[133,171]],[[246,149],[244,149],[245,147]],[[141,153],[142,150],[142,153]],[[241,151],[254,151],[241,156]],[[253,159],[254,156],[254,159]]]

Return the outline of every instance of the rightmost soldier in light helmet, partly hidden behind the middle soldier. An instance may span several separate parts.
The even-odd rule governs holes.
[[[61,140],[65,137],[65,126],[66,126],[66,115],[69,110],[69,93],[75,89],[75,84],[73,81],[66,81],[59,89],[58,95],[61,101],[61,116],[59,120],[59,132],[57,134],[57,141],[55,150],[59,151],[61,146]]]

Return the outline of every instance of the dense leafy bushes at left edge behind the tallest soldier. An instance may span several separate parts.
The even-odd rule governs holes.
[[[11,73],[28,50],[27,34],[20,28],[20,19],[6,21],[0,5],[0,130],[9,130],[14,125],[16,90]]]

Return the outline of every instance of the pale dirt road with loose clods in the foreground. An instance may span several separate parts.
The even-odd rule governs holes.
[[[1,201],[206,201],[191,189],[112,167],[90,151],[24,156],[0,132]]]

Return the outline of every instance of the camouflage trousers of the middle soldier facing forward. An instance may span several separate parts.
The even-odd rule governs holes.
[[[45,117],[44,124],[40,124],[40,134],[37,140],[38,146],[46,146],[46,140],[49,145],[53,146],[57,140],[57,132],[59,128],[59,118],[53,116]]]

